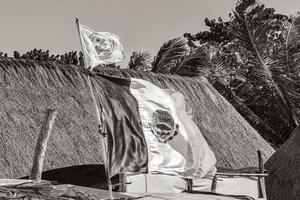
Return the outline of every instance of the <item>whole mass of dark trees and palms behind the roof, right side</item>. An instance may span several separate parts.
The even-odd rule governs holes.
[[[166,42],[152,71],[205,76],[261,135],[281,144],[300,113],[299,22],[289,28],[291,21],[255,0],[240,0],[229,21],[205,19],[209,31],[186,33],[179,46],[183,40]]]

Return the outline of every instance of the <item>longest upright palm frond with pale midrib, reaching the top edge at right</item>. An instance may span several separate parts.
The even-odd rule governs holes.
[[[293,124],[295,121],[289,106],[290,99],[279,81],[282,69],[272,68],[274,61],[270,59],[267,33],[272,31],[274,24],[268,20],[268,12],[263,5],[257,3],[253,3],[245,12],[234,12],[237,20],[234,34],[241,48],[247,52],[249,81],[268,88],[266,91],[273,97],[271,103],[279,110],[278,117],[290,119]]]

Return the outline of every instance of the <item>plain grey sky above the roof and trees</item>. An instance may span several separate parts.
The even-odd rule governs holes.
[[[284,14],[299,0],[264,0]],[[75,18],[95,31],[121,38],[128,63],[133,51],[154,56],[161,45],[184,33],[206,30],[204,19],[228,19],[236,0],[0,0],[0,51],[10,56],[34,48],[51,54],[79,51]]]

